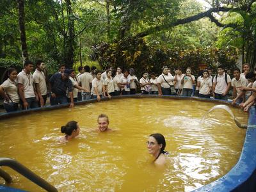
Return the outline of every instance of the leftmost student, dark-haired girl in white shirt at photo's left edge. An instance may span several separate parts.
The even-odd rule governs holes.
[[[0,85],[0,95],[4,98],[4,109],[7,112],[17,111],[19,109],[20,97],[16,83],[17,70],[8,68],[4,72],[3,84]]]

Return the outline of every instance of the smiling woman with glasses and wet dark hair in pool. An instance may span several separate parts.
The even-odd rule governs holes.
[[[164,151],[166,146],[163,134],[154,133],[150,134],[147,141],[148,153],[151,154],[154,159],[154,164],[164,165],[166,164],[166,157],[169,153]]]

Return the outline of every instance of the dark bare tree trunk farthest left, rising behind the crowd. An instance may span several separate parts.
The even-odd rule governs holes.
[[[19,29],[20,29],[20,44],[22,52],[23,63],[28,61],[28,48],[26,43],[26,30],[25,30],[25,10],[24,0],[17,0],[19,8]]]

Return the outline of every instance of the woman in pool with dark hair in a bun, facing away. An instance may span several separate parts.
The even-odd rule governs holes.
[[[61,126],[61,132],[65,133],[65,136],[61,138],[61,141],[65,142],[76,138],[79,135],[80,127],[76,121],[70,121],[65,126]]]

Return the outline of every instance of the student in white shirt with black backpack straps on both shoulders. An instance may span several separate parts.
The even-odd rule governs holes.
[[[218,67],[218,75],[213,77],[212,96],[214,99],[228,100],[227,93],[231,86],[231,79],[228,74],[225,74],[224,67]]]

